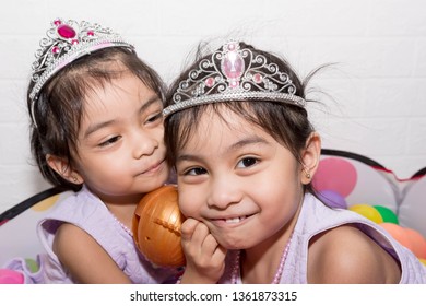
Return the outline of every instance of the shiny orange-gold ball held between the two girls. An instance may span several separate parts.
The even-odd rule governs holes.
[[[163,186],[146,193],[133,216],[132,231],[137,247],[157,266],[184,266],[185,255],[180,245],[180,225],[184,220],[175,186]]]

